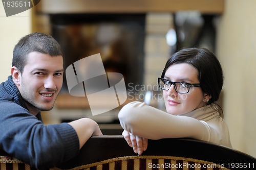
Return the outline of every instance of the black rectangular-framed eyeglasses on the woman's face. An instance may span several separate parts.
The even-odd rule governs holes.
[[[200,87],[200,83],[190,84],[184,82],[172,82],[163,78],[158,78],[158,86],[163,90],[169,90],[172,84],[174,85],[175,91],[178,93],[188,93],[190,87]]]

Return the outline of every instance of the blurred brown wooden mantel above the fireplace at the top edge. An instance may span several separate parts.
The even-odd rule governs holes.
[[[147,13],[196,10],[204,14],[222,14],[224,0],[44,0],[37,12],[60,13]]]

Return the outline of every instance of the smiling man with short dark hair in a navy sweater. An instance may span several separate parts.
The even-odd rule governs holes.
[[[67,161],[92,135],[94,120],[44,125],[40,111],[53,108],[62,86],[61,47],[51,36],[29,34],[15,45],[11,76],[0,85],[0,150],[36,168]]]

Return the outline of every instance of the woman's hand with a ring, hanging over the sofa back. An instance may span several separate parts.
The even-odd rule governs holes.
[[[122,133],[124,139],[129,144],[130,147],[133,148],[133,151],[136,154],[141,155],[143,151],[147,149],[147,139],[139,137],[137,135],[133,135],[130,132],[123,131]]]

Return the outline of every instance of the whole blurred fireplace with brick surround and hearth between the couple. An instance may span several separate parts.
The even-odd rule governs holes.
[[[49,32],[62,47],[65,70],[79,59],[100,53],[106,72],[123,75],[128,98],[126,103],[143,101],[146,91],[156,89],[157,77],[161,75],[168,58],[165,34],[172,26],[172,14],[82,13],[47,16],[51,28]],[[122,106],[92,116],[87,98],[71,96],[66,76],[63,79],[55,107],[48,115],[51,123],[89,117],[104,131],[110,129],[110,134],[120,134],[117,114]]]

